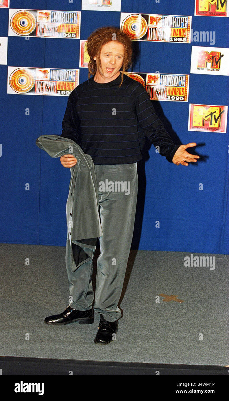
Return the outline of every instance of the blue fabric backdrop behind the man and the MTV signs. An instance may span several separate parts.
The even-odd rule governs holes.
[[[10,8],[78,11],[81,1],[10,0]],[[8,36],[8,11],[0,9],[0,36]],[[194,0],[122,0],[121,12],[191,15],[194,31],[215,31],[215,47],[229,47],[228,18],[194,16]],[[80,38],[87,39],[100,26],[119,24],[120,12],[82,11]],[[139,56],[130,71],[190,74],[192,45],[210,43],[138,42]],[[79,51],[80,39],[28,41],[9,36],[7,64],[79,68]],[[81,68],[80,83],[86,79],[88,70]],[[35,141],[40,135],[61,134],[67,97],[7,94],[6,65],[0,65],[0,82],[0,242],[64,246],[70,170],[37,148]],[[133,248],[229,253],[229,137],[188,131],[189,103],[227,105],[228,77],[190,74],[188,102],[154,102],[173,138],[182,144],[196,142],[195,152],[203,157],[178,167],[147,146],[146,161],[139,166]],[[25,190],[27,183],[30,190]]]

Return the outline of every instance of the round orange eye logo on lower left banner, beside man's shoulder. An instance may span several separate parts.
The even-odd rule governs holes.
[[[18,68],[11,73],[9,84],[15,92],[27,93],[35,85],[35,76],[25,68]]]

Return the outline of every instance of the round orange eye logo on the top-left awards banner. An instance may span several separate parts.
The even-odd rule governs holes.
[[[27,10],[17,11],[10,20],[12,30],[18,35],[28,35],[36,27],[35,16]]]

